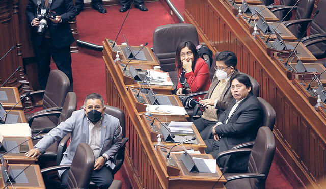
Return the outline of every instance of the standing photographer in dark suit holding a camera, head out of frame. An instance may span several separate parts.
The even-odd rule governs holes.
[[[38,5],[38,3],[40,3]],[[40,16],[50,16],[43,34],[38,34]],[[73,90],[70,44],[74,41],[68,21],[76,16],[73,0],[29,0],[26,7],[27,19],[31,25],[31,38],[38,64],[38,79],[45,89],[50,73],[50,58],[53,58],[59,70],[70,80]]]

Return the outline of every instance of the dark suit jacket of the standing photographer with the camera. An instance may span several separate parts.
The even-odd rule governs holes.
[[[45,0],[42,0],[42,3]],[[42,5],[41,3],[41,5]],[[40,5],[40,7],[41,7]],[[53,0],[51,4],[51,8],[47,6],[47,12],[49,10],[56,12],[55,14],[51,13],[53,17],[61,16],[61,23],[53,23],[52,21],[48,21],[47,25],[49,26],[49,33],[51,37],[51,41],[53,45],[57,48],[62,48],[65,46],[69,46],[73,41],[73,35],[71,33],[71,29],[68,21],[72,20],[76,16],[76,9],[73,5],[73,0]],[[36,18],[37,11],[37,0],[29,0],[29,3],[26,7],[26,16],[31,26],[31,22],[34,18]],[[41,11],[39,10],[39,13]],[[40,46],[43,36],[37,35],[37,27],[32,27],[31,37],[32,42],[36,46]]]

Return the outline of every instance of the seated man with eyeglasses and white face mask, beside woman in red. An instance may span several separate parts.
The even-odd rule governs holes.
[[[216,124],[218,116],[227,109],[233,99],[228,81],[232,76],[240,73],[236,69],[236,65],[236,55],[231,51],[220,52],[216,57],[216,72],[208,93],[203,99],[199,98],[199,102],[208,108],[204,110],[200,118],[193,122],[204,140],[211,137],[211,128]]]

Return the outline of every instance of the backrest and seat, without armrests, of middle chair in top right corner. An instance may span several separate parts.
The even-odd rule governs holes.
[[[295,13],[295,20],[307,19],[311,17],[312,10],[314,8],[315,0],[301,0],[298,3],[297,11]],[[305,32],[308,24],[295,24],[289,26],[289,30],[297,37],[300,38]]]

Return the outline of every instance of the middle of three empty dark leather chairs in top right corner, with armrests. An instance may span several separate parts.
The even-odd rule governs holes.
[[[305,30],[307,29],[309,21],[298,22],[300,19],[309,19],[311,17],[312,10],[314,8],[315,0],[301,0],[294,9],[296,10],[294,20],[283,22],[285,26],[297,37],[300,38]],[[285,11],[286,13],[293,6],[283,6],[280,8],[276,8],[271,10],[271,12],[275,13],[276,11]],[[293,10],[294,10],[293,9]],[[285,13],[285,14],[286,14]]]

